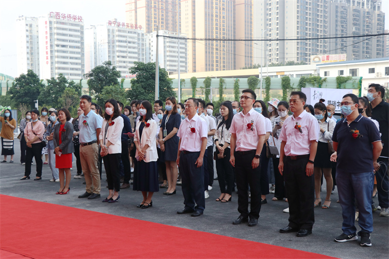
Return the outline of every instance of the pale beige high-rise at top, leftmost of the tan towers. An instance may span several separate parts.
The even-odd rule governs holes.
[[[177,32],[177,4],[177,0],[127,0],[125,19],[132,29],[141,26],[145,33],[157,31],[157,26],[159,30]]]

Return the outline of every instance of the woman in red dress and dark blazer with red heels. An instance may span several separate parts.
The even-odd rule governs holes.
[[[72,153],[73,146],[73,124],[69,121],[71,119],[70,112],[65,109],[58,110],[58,119],[61,123],[56,124],[54,128],[54,153],[55,153],[55,168],[59,170],[59,184],[60,188],[56,194],[67,194],[70,191],[70,179],[72,167]],[[65,182],[66,174],[66,184]]]

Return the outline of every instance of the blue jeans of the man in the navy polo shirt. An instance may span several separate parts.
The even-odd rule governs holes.
[[[356,233],[355,200],[358,204],[358,224],[361,231],[373,231],[371,195],[373,194],[374,173],[350,173],[336,171],[336,185],[342,207],[342,230],[346,235]]]

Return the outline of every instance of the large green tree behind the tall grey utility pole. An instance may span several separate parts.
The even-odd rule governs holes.
[[[155,101],[155,62],[143,63],[134,62],[129,69],[136,78],[131,79],[131,89],[127,91],[130,100]],[[176,97],[173,90],[173,82],[169,78],[166,69],[159,68],[159,99],[166,100],[170,96]]]

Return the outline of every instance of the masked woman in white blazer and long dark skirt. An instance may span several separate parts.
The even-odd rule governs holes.
[[[153,110],[148,101],[141,103],[140,118],[135,129],[134,143],[137,147],[135,158],[138,164],[134,171],[134,190],[140,190],[143,201],[137,207],[148,208],[153,206],[151,198],[158,186],[157,165],[157,122],[153,119]]]

